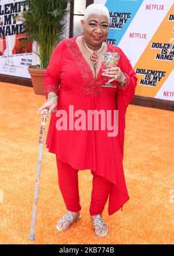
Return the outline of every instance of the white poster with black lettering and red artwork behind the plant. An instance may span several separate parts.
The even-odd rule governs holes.
[[[0,0],[0,74],[30,78],[27,67],[36,64],[32,42],[24,34],[27,2]]]

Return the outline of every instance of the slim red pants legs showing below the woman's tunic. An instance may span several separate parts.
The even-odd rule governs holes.
[[[66,208],[68,211],[78,212],[81,210],[78,190],[78,170],[74,169],[68,163],[60,161],[57,157],[56,161],[58,183]],[[89,213],[90,215],[102,214],[111,190],[111,182],[102,176],[96,175],[92,170],[91,173],[93,175],[93,187]]]

